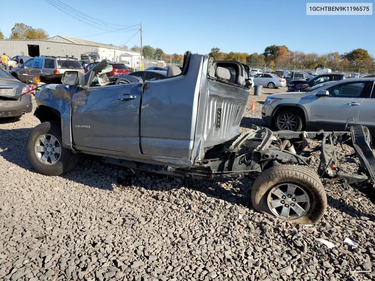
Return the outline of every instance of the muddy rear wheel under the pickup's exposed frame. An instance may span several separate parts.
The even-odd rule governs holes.
[[[283,194],[283,197],[278,197],[273,193],[278,188],[279,190],[288,190],[293,186],[297,187],[290,198],[286,197],[285,193],[279,193]],[[293,203],[300,196],[303,196],[304,200],[308,196],[309,202]],[[295,200],[293,201],[293,199]],[[279,165],[263,171],[254,181],[251,200],[257,211],[294,224],[315,224],[320,221],[327,208],[327,195],[324,187],[317,173],[306,166]],[[284,205],[274,205],[277,207],[271,209],[269,202],[276,202],[274,204],[281,202]],[[297,205],[299,206],[297,207]],[[284,207],[285,210],[289,210],[286,213],[288,216],[281,215]],[[294,209],[297,209],[300,214],[294,212]]]

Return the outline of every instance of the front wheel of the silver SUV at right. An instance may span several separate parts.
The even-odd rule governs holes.
[[[291,130],[299,132],[303,127],[302,115],[293,108],[281,109],[275,116],[274,125],[276,130]],[[284,121],[285,120],[285,121]],[[287,123],[287,122],[290,123]]]

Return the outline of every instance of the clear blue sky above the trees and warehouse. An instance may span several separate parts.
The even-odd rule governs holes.
[[[306,1],[60,1],[111,24],[135,25],[142,21],[143,45],[161,48],[165,53],[181,54],[189,50],[207,54],[212,47],[218,47],[223,52],[250,54],[263,52],[266,46],[276,44],[286,45],[293,51],[318,54],[364,48],[375,55],[375,39],[371,31],[375,25],[374,15],[308,16]],[[11,15],[0,17],[0,28],[6,37],[16,22],[43,28],[51,37],[81,37],[105,32],[68,17],[44,0],[34,0],[32,4],[29,0],[18,0],[17,7],[28,7],[29,12],[20,14],[14,1],[1,1],[1,9]],[[118,46],[136,31],[82,39]],[[303,33],[306,35],[300,35]],[[129,48],[140,45],[140,33],[126,45]]]

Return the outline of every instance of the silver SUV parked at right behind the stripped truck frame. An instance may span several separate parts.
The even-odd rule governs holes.
[[[348,122],[367,126],[375,135],[374,82],[352,78],[325,82],[308,92],[272,94],[262,118],[276,130],[344,130]]]

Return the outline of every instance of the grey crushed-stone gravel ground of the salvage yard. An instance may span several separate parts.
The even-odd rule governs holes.
[[[264,124],[265,98],[250,96],[243,130]],[[32,113],[0,120],[0,280],[375,278],[350,272],[375,271],[375,205],[356,189],[327,184],[329,206],[311,227],[254,211],[249,179],[136,177],[95,157],[64,176],[43,176],[26,157],[37,124]]]

